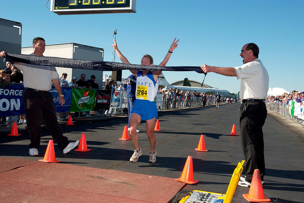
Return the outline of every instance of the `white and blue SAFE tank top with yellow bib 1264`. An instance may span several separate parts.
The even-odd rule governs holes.
[[[137,72],[136,77],[136,99],[154,101],[158,89],[158,78],[155,82],[153,71],[147,73],[145,76],[143,71]]]

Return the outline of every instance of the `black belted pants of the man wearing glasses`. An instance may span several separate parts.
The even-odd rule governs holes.
[[[244,102],[240,107],[240,132],[246,159],[246,180],[251,182],[254,169],[260,170],[261,180],[265,174],[264,139],[262,127],[267,117],[264,102]]]

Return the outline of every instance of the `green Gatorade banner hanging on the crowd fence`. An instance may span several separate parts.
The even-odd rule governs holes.
[[[70,111],[92,111],[95,105],[95,89],[73,88]]]

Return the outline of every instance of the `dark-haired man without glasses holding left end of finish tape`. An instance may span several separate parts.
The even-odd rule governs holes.
[[[45,40],[41,37],[33,39],[33,53],[37,56],[35,60],[40,60],[45,51]],[[0,57],[5,57],[5,51],[0,52]],[[61,91],[58,73],[55,67],[47,65],[30,65],[16,62],[15,65],[23,72],[25,91],[23,94],[25,112],[27,118],[27,128],[31,143],[29,144],[29,155],[38,155],[40,146],[41,121],[43,121],[50,132],[50,135],[57,142],[63,153],[74,149],[79,140],[68,142],[67,137],[63,136],[62,129],[57,121],[56,110],[53,96],[49,92],[51,82],[59,94],[59,104],[65,103],[64,95]]]

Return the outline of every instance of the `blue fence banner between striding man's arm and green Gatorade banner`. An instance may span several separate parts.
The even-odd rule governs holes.
[[[61,87],[62,94],[64,95],[64,105],[59,104],[59,95],[54,86],[52,86],[50,93],[54,97],[54,103],[56,112],[69,112],[71,107],[71,98],[72,98],[72,89],[71,87]]]

